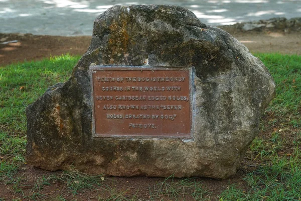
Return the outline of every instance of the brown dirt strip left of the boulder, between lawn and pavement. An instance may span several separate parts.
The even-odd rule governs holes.
[[[6,41],[16,43],[1,44]],[[32,34],[0,34],[0,66],[40,60],[66,53],[82,55],[90,45],[90,36],[37,36]]]

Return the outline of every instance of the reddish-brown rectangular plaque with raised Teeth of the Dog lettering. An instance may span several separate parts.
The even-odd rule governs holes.
[[[191,68],[95,66],[90,73],[94,137],[191,137]]]

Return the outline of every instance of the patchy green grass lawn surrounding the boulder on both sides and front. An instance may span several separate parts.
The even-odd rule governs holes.
[[[21,176],[26,167],[26,106],[47,87],[67,80],[79,57],[63,55],[0,67],[0,184],[12,190],[7,200],[70,200],[83,193],[98,200],[301,200],[301,56],[256,56],[274,77],[276,96],[242,163],[245,185],[229,180],[221,192],[212,192],[200,178],[173,176],[150,183],[147,189],[132,190],[118,187],[116,179],[113,184],[101,175],[77,171],[40,175],[29,186],[27,175]],[[59,192],[47,191],[54,186]],[[5,199],[0,196],[0,200]]]

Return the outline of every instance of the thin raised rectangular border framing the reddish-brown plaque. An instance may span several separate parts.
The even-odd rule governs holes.
[[[123,71],[133,71],[133,70],[188,70],[189,77],[189,98],[190,98],[190,136],[188,135],[177,135],[177,136],[167,136],[167,135],[97,135],[95,132],[95,109],[94,109],[94,87],[93,87],[93,70],[107,71],[107,70],[123,70]],[[91,107],[92,107],[92,138],[123,138],[123,139],[133,139],[133,138],[158,138],[158,139],[192,139],[194,133],[194,72],[195,68],[192,67],[172,67],[172,66],[122,66],[122,65],[90,65],[88,69],[88,74],[90,76],[90,87],[91,87]]]

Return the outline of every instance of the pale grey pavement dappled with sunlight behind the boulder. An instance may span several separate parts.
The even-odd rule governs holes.
[[[301,17],[301,0],[0,0],[0,33],[91,35],[96,16],[113,5],[149,3],[185,7],[214,26]]]

